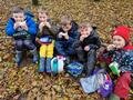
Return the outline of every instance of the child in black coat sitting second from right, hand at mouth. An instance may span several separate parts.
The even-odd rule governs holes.
[[[74,42],[73,47],[75,49],[78,60],[81,63],[86,62],[86,76],[89,77],[94,69],[96,50],[101,46],[100,38],[96,33],[95,28],[91,27],[88,22],[81,23],[80,37]]]

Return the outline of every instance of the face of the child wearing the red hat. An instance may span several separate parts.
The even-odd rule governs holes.
[[[125,40],[120,36],[113,36],[113,44],[116,49],[122,49],[125,46]]]

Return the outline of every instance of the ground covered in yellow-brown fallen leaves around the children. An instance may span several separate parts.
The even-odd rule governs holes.
[[[0,0],[0,100],[99,100],[99,94],[85,94],[78,80],[68,74],[38,73],[30,58],[22,68],[14,66],[13,42],[6,38],[3,29],[11,8],[17,4],[31,9],[34,14],[39,8],[31,6],[31,0]],[[57,22],[64,13],[71,14],[78,23],[91,22],[104,42],[110,41],[114,26],[133,27],[133,0],[40,0],[40,4]]]

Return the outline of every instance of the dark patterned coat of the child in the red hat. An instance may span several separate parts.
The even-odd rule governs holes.
[[[132,47],[125,47],[120,50],[111,50],[111,51],[104,51],[102,54],[99,57],[100,61],[104,61],[108,64],[111,62],[117,62],[119,63],[119,69],[122,72],[133,72],[133,50]]]

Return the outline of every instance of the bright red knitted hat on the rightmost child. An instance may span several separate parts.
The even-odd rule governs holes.
[[[121,36],[124,38],[125,42],[130,41],[130,28],[125,26],[116,27],[113,31],[113,36]]]

